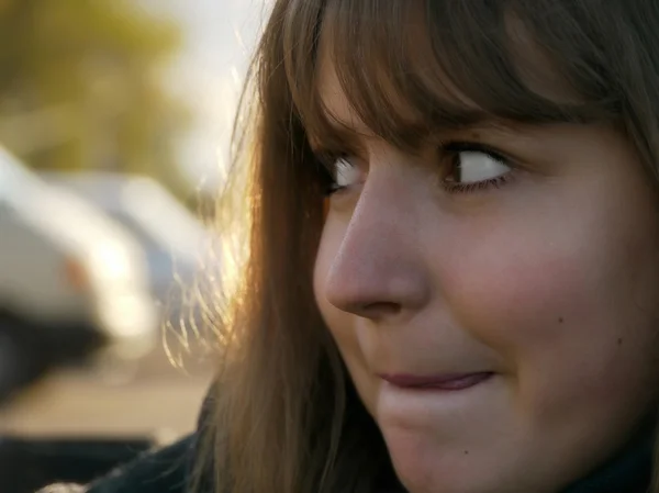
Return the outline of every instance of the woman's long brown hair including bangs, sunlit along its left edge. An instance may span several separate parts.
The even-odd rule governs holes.
[[[242,219],[248,251],[202,430],[216,493],[371,493],[390,471],[313,300],[323,172],[309,137],[334,138],[317,94],[321,40],[357,115],[401,147],[483,120],[605,122],[654,173],[657,25],[641,0],[275,2],[220,204]]]

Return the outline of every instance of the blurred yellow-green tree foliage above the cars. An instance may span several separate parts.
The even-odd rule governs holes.
[[[171,182],[188,120],[163,83],[178,27],[136,0],[0,0],[0,142],[36,168]]]

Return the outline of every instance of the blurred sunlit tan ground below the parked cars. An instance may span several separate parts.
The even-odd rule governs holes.
[[[55,372],[0,408],[0,436],[143,436],[169,441],[194,428],[211,365],[175,369],[158,347],[132,376],[99,368]]]

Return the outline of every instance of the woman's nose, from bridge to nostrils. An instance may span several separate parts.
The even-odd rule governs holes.
[[[373,175],[331,264],[325,296],[344,312],[387,322],[421,310],[431,283],[414,213],[418,195],[400,177],[386,183]]]

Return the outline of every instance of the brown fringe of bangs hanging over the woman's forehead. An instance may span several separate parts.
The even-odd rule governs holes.
[[[325,56],[356,117],[400,147],[482,121],[589,123],[619,115],[603,54],[578,5],[298,0],[289,7],[284,64],[294,111],[323,139],[337,124],[319,89]]]

